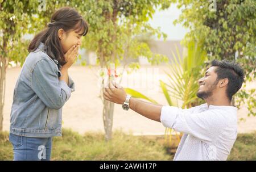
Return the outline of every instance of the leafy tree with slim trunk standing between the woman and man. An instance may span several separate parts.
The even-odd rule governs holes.
[[[115,64],[116,68],[121,62],[124,68],[138,68],[138,63],[128,64],[127,58],[139,56],[147,57],[151,64],[167,61],[167,57],[152,53],[148,45],[136,39],[136,36],[146,32],[159,37],[166,36],[159,29],[152,28],[147,21],[152,18],[157,7],[164,9],[169,3],[167,0],[85,1],[85,5],[79,7],[80,11],[86,11],[85,18],[90,25],[88,36],[84,39],[85,48],[96,52],[98,64],[106,70],[110,68],[110,64]],[[102,78],[102,83],[105,81]],[[102,102],[105,136],[106,140],[110,140],[114,104],[103,98]]]

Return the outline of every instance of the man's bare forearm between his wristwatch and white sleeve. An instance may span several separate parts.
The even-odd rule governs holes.
[[[138,114],[160,122],[161,110],[163,107],[162,105],[143,102],[142,100],[131,97],[129,106],[131,110],[134,110]]]

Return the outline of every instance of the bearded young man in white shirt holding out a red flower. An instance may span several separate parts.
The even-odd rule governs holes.
[[[243,77],[238,64],[213,60],[199,79],[197,97],[206,103],[189,109],[143,102],[127,95],[117,83],[105,88],[104,98],[184,133],[174,160],[226,160],[237,137],[237,107],[231,100]]]

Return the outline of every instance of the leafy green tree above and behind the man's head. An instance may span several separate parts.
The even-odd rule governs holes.
[[[245,102],[249,115],[256,115],[255,89],[245,90],[247,82],[256,78],[256,1],[213,0],[176,1],[182,13],[176,23],[189,28],[183,42],[203,40],[209,60],[228,59],[239,62],[245,69],[246,82],[236,94],[237,102]],[[214,3],[216,2],[216,5]],[[214,7],[215,10],[210,10]],[[238,104],[239,105],[239,104]]]

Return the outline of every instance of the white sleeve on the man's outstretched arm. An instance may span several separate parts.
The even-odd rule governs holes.
[[[205,142],[211,142],[224,127],[224,118],[214,110],[192,114],[189,110],[163,106],[160,120],[164,127],[173,128]]]

